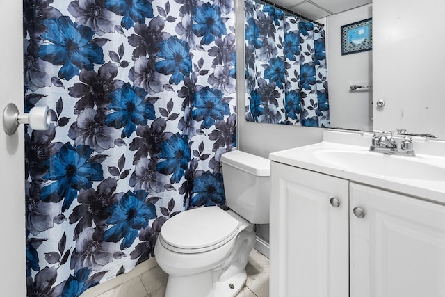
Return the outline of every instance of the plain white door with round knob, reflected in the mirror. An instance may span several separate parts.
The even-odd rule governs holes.
[[[373,20],[374,129],[445,138],[445,1],[373,0]]]

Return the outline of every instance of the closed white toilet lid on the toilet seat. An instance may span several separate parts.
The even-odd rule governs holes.
[[[232,236],[240,225],[219,207],[200,207],[168,219],[161,228],[161,236],[176,248],[206,248]]]

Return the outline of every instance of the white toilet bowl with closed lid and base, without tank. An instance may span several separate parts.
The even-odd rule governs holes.
[[[245,284],[244,269],[255,243],[253,225],[219,207],[202,207],[183,214],[164,223],[154,249],[159,266],[169,275],[165,296],[235,296]],[[204,223],[207,227],[195,219],[201,216],[212,218],[211,223]],[[175,217],[181,219],[181,224]],[[169,230],[175,226],[182,227]],[[212,229],[219,227],[223,230],[217,232],[218,239]],[[177,241],[168,240],[172,234]]]

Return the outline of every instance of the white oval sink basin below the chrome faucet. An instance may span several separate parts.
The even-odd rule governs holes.
[[[397,179],[444,181],[445,168],[418,156],[395,156],[366,150],[318,150],[314,157],[326,165]]]

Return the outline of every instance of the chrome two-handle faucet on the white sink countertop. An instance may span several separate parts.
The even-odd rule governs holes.
[[[390,132],[391,136],[374,134],[371,147],[371,152],[381,152],[383,154],[397,154],[401,156],[415,156],[411,137],[405,136],[401,142],[401,147],[397,147],[396,140],[393,137],[393,132]]]

